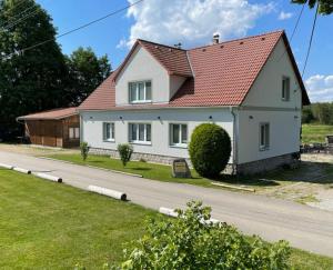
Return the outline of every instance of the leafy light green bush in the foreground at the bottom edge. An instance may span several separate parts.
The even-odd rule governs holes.
[[[225,223],[210,222],[211,209],[188,203],[181,218],[151,220],[148,234],[125,250],[121,269],[289,269],[285,241],[245,238]]]

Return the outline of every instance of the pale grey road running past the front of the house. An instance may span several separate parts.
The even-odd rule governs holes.
[[[333,257],[333,212],[263,196],[168,183],[89,167],[0,151],[0,162],[61,177],[87,189],[95,184],[123,191],[147,208],[184,208],[190,200],[211,206],[213,218],[234,224],[246,234],[268,241],[285,239],[291,246]],[[124,202],[125,203],[125,202]]]

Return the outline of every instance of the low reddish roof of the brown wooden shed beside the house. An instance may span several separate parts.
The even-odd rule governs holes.
[[[78,114],[77,107],[67,109],[54,109],[50,111],[42,111],[29,116],[19,117],[18,120],[60,120],[71,116]]]

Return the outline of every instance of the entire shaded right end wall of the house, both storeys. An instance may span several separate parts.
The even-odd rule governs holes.
[[[291,79],[289,101],[282,100],[284,76]],[[238,162],[299,151],[301,107],[301,90],[281,39],[239,111]],[[270,149],[260,151],[260,123],[263,122],[270,123]]]

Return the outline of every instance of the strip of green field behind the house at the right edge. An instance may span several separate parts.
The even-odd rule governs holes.
[[[333,126],[324,124],[303,124],[302,126],[302,142],[325,142],[325,137],[333,134]]]

